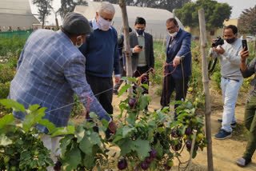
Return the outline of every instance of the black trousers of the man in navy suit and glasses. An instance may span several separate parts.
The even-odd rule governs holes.
[[[176,93],[175,101],[180,101],[182,98],[185,100],[186,92],[188,88],[189,78],[173,78],[171,74],[164,77],[162,82],[162,95],[160,104],[162,107],[169,106],[170,96],[174,92]],[[178,105],[174,105],[176,109]]]

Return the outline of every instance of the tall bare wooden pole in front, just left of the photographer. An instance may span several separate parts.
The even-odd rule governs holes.
[[[200,41],[201,41],[201,51],[202,51],[202,83],[205,93],[205,118],[206,118],[206,140],[207,140],[207,161],[208,161],[208,171],[214,170],[213,162],[213,152],[212,152],[212,140],[211,140],[211,130],[210,130],[210,91],[209,91],[209,78],[207,70],[207,58],[206,58],[206,20],[205,11],[203,9],[198,10],[199,17],[199,27],[200,27]]]

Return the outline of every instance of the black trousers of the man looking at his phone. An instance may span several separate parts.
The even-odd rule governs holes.
[[[138,66],[138,67],[137,67],[137,70],[134,72],[134,77],[135,77],[135,78],[141,77],[142,74],[146,73],[148,70],[149,70],[149,67],[148,67],[148,66]],[[149,73],[143,75],[141,79],[142,79],[142,84],[147,84],[147,85],[150,86],[150,77],[149,77]],[[136,87],[133,87],[133,89],[134,89],[134,93],[135,93]],[[144,92],[143,92],[142,94],[144,94],[144,93],[149,93],[149,90],[148,90],[148,89],[145,89],[144,87],[143,87],[143,89],[144,89]]]

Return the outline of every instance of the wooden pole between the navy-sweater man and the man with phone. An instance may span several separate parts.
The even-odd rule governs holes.
[[[119,0],[119,6],[122,10],[122,26],[124,33],[124,53],[126,55],[126,77],[133,77],[133,70],[131,67],[131,57],[130,57],[130,38],[129,38],[129,23],[128,15],[126,10],[126,1]],[[131,84],[130,81],[127,81],[128,84]],[[128,94],[132,93],[132,87],[128,89]]]

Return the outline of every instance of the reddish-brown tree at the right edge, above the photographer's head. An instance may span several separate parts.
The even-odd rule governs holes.
[[[242,11],[239,17],[238,30],[241,34],[256,34],[256,5]]]

